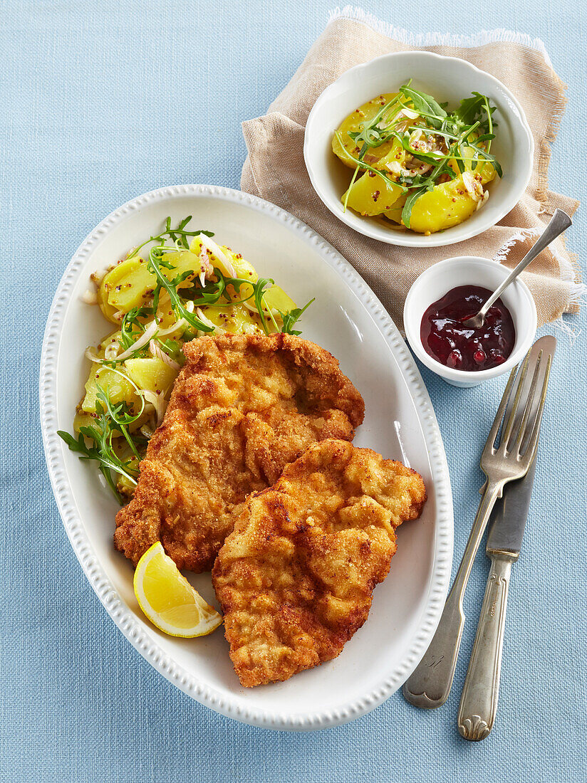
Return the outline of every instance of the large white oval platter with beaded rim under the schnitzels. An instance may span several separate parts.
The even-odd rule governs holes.
[[[96,307],[82,301],[89,275],[123,257],[170,215],[174,225],[210,229],[244,254],[259,276],[274,277],[299,305],[303,337],[328,348],[364,396],[355,445],[407,462],[422,474],[422,518],[398,530],[390,576],[375,588],[371,614],[334,661],[264,687],[239,684],[222,630],[201,639],[165,636],[140,612],[132,565],[114,550],[118,505],[92,464],[56,435],[71,431],[88,373],[84,351],[107,334]],[[287,212],[246,193],[179,185],[145,193],[109,215],[63,274],[45,329],[40,371],[45,456],[56,503],[93,589],[125,637],[164,677],[197,702],[255,726],[289,731],[331,727],[368,713],[406,680],[436,629],[452,559],[452,500],[444,446],[422,378],[379,300],[330,245]],[[216,604],[209,574],[187,575]],[[217,604],[216,604],[217,605]]]

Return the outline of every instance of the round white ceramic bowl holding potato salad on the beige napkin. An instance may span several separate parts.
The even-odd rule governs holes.
[[[393,92],[410,78],[416,89],[428,92],[439,102],[447,101],[451,108],[473,91],[484,93],[497,106],[493,117],[498,128],[491,153],[502,164],[503,178],[491,182],[487,204],[468,220],[430,236],[394,231],[382,225],[382,220],[361,217],[350,209],[342,211],[340,198],[349,186],[350,168],[335,157],[331,146],[332,134],[357,106],[381,92]],[[322,92],[306,123],[304,160],[318,196],[351,229],[388,244],[437,247],[462,242],[486,231],[517,204],[530,181],[534,139],[524,110],[495,77],[456,57],[400,52],[347,70]]]

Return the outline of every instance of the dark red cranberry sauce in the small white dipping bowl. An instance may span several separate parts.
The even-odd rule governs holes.
[[[492,293],[480,286],[458,286],[433,302],[420,327],[426,353],[455,370],[489,370],[505,362],[513,351],[516,330],[501,299],[487,311],[480,329],[462,324],[479,312]]]

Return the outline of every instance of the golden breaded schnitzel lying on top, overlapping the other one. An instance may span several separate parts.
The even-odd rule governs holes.
[[[212,570],[241,684],[339,655],[390,570],[397,525],[425,500],[415,471],[340,440],[313,444],[250,496]]]

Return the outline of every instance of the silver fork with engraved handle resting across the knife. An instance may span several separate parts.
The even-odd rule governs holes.
[[[522,365],[514,367],[509,376],[481,455],[481,470],[487,476],[487,482],[465,554],[444,605],[437,632],[426,655],[403,687],[405,698],[417,707],[440,707],[451,692],[465,624],[462,597],[495,500],[502,496],[505,484],[527,474],[534,459],[553,359],[553,342],[556,345],[554,337],[537,340]],[[524,384],[526,377],[531,378],[529,385]],[[506,408],[509,415],[504,417]],[[497,443],[500,429],[501,437]]]

